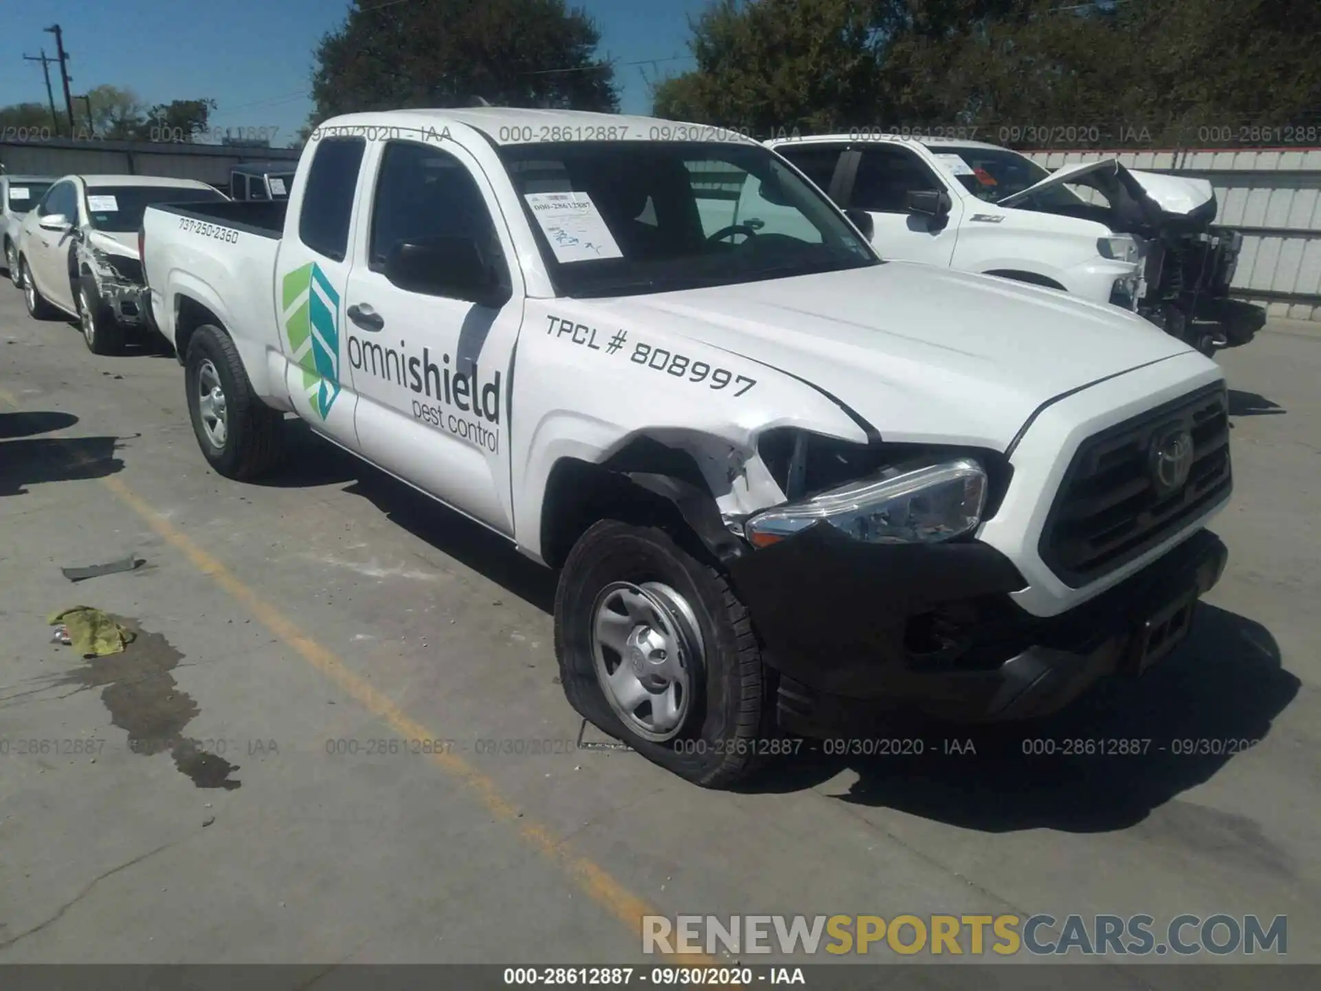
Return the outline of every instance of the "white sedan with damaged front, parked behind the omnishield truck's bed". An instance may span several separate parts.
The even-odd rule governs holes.
[[[214,186],[157,176],[63,176],[18,229],[16,262],[28,313],[67,313],[95,354],[125,330],[153,328],[139,230],[152,203],[225,202]]]

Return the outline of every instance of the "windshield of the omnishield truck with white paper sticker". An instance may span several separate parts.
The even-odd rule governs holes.
[[[501,156],[561,296],[880,264],[839,210],[761,145],[546,143]]]

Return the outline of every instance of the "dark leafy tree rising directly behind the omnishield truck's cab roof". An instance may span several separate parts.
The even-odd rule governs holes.
[[[362,3],[313,53],[309,124],[396,107],[618,110],[601,34],[564,0]],[[366,9],[363,9],[366,8]]]

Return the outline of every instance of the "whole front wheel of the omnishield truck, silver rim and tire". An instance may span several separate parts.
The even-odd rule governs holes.
[[[583,535],[555,595],[555,653],[573,708],[647,760],[704,788],[760,764],[748,610],[663,530],[606,519]]]

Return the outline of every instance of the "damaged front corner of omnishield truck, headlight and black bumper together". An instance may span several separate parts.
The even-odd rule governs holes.
[[[1173,649],[1226,560],[1202,531],[1038,617],[1013,601],[1026,585],[1013,562],[976,539],[1008,489],[1004,456],[798,431],[769,432],[761,455],[789,498],[737,521],[750,550],[725,566],[777,673],[778,723],[802,736],[902,710],[963,723],[1054,712]]]

